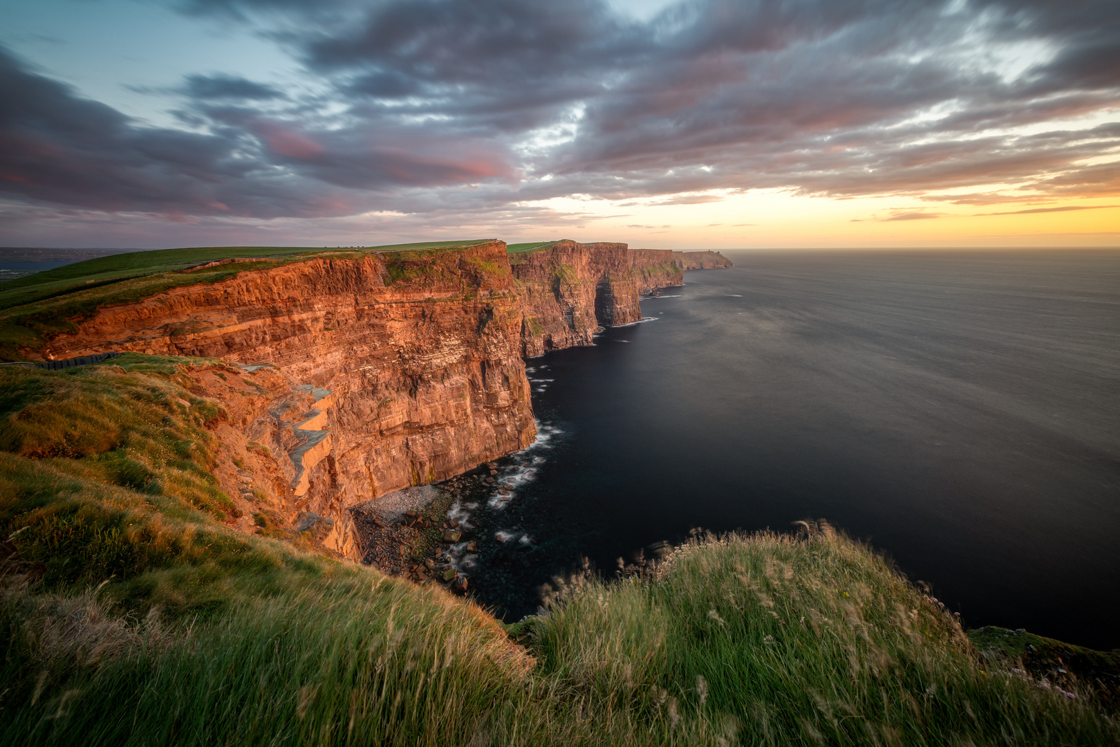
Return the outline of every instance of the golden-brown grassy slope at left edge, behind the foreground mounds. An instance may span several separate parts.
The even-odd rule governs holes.
[[[217,442],[206,426],[225,413],[189,391],[184,371],[225,364],[111,361],[0,368],[0,530],[47,588],[245,550],[215,534],[236,513],[211,474]]]

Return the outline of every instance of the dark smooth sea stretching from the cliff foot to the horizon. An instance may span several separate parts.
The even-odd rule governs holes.
[[[529,362],[543,438],[472,504],[480,601],[824,517],[969,627],[1120,646],[1120,252],[727,255]]]

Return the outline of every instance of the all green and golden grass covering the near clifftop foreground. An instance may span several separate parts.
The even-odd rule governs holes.
[[[222,403],[190,392],[207,366],[0,370],[0,744],[1120,743],[1092,681],[979,652],[823,524],[557,580],[508,628],[237,533],[207,477]]]

